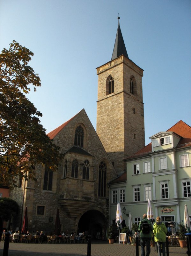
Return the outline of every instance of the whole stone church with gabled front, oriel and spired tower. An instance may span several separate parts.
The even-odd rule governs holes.
[[[118,17],[119,19],[119,17]],[[110,225],[109,182],[125,172],[125,158],[144,147],[143,69],[129,59],[118,20],[111,61],[97,68],[97,132],[86,112],[47,135],[60,147],[57,172],[36,166],[36,181],[18,180],[10,197],[18,202],[12,229],[21,229],[25,207],[28,229],[86,232],[106,238]]]

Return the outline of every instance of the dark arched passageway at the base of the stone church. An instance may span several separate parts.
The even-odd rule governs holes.
[[[92,239],[106,239],[107,220],[103,213],[97,210],[85,212],[78,222],[77,233],[85,232]]]

